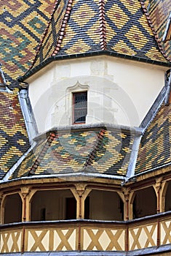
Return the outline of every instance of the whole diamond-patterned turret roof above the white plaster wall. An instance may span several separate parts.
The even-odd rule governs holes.
[[[54,59],[96,54],[167,66],[169,61],[148,20],[143,1],[56,1],[36,58],[26,76]]]

